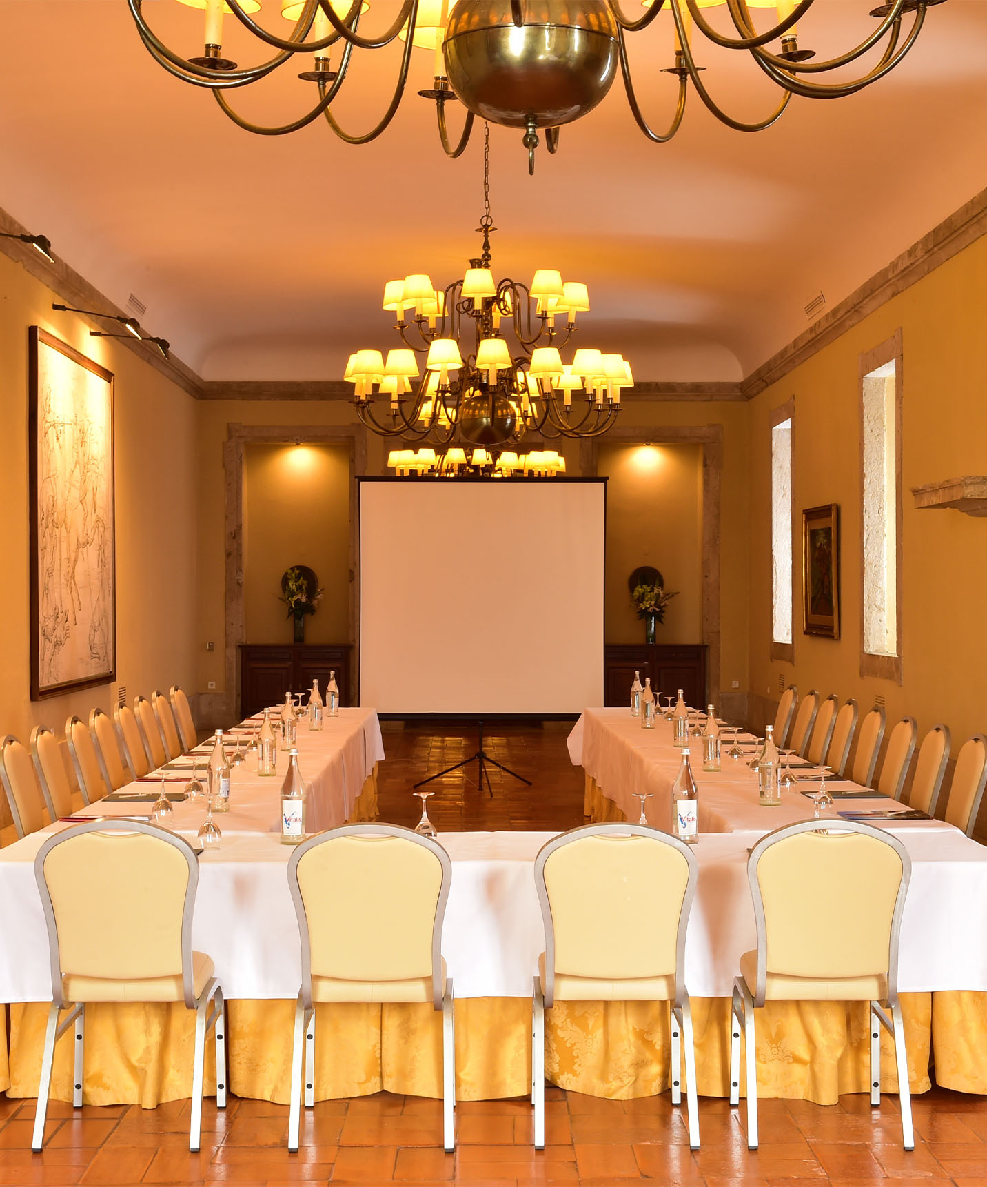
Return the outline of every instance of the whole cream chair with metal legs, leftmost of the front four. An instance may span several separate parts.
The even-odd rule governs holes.
[[[34,877],[51,950],[51,1009],[31,1148],[40,1150],[44,1142],[55,1043],[72,1023],[72,1104],[78,1109],[83,1103],[87,1003],[184,1002],[196,1011],[189,1149],[198,1150],[205,1035],[214,1022],[219,1109],[227,1104],[227,1058],[223,992],[210,958],[192,951],[199,877],[195,850],[153,824],[88,820],[42,845]],[[112,909],[94,912],[89,891]],[[68,1014],[59,1022],[63,1010]]]

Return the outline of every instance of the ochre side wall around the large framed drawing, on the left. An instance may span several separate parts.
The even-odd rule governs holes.
[[[128,699],[196,679],[197,401],[72,313],[19,264],[0,255],[0,423],[5,563],[0,566],[0,730],[27,742],[45,723],[62,734],[71,713],[88,718],[116,703],[101,685],[32,703],[27,495],[27,328],[39,325],[115,375],[116,679]],[[6,801],[2,804],[6,823]]]

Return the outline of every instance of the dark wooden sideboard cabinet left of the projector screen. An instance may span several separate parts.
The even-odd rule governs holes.
[[[285,693],[303,692],[319,681],[325,697],[329,673],[336,672],[339,704],[350,705],[352,643],[241,643],[240,713],[249,717],[266,705],[284,702]]]

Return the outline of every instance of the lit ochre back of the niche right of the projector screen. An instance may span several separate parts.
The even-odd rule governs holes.
[[[652,565],[677,590],[658,627],[658,642],[702,637],[702,447],[604,445],[597,474],[606,477],[606,641],[639,643],[644,624],[631,605],[628,577]]]

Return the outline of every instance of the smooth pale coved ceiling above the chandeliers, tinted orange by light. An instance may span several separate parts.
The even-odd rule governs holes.
[[[873,4],[820,0],[801,43],[855,44]],[[202,13],[176,0],[145,9],[168,44],[200,52]],[[374,0],[363,31],[394,11]],[[279,13],[265,0],[261,17],[284,33]],[[224,49],[259,61],[227,26]],[[642,104],[664,125],[668,18],[631,44]],[[348,127],[387,106],[394,49],[355,56],[337,103]],[[772,104],[746,56],[702,43],[698,57],[732,112]],[[136,294],[147,328],[204,379],[338,379],[357,345],[394,344],[384,280],[428,272],[446,285],[477,252],[482,137],[445,158],[415,94],[431,71],[415,51],[403,104],[371,145],[343,145],[324,123],[254,137],[151,59],[126,0],[0,0],[0,205],[117,304]],[[233,102],[256,120],[293,118],[312,99],[295,72]],[[521,133],[491,128],[495,273],[585,280],[581,344],[622,350],[638,379],[737,380],[807,328],[820,290],[832,307],[987,184],[985,127],[985,0],[930,8],[890,77],[851,99],[796,99],[754,135],[719,125],[693,93],[679,137],[650,144],[618,80],[562,129],[558,155],[540,150],[534,178]]]

